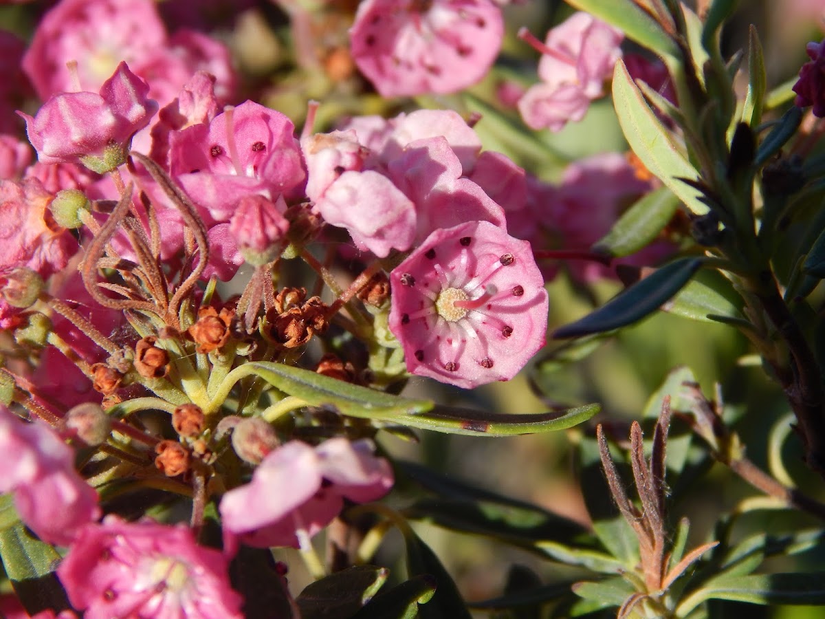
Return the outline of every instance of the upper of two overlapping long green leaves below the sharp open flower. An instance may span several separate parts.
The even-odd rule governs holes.
[[[402,398],[300,367],[272,361],[252,361],[246,365],[285,394],[295,395],[312,406],[331,404],[345,415],[354,417],[370,416],[370,413],[422,413],[433,406],[426,399]]]

